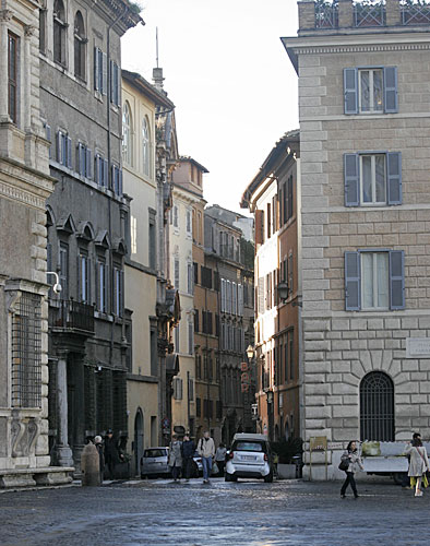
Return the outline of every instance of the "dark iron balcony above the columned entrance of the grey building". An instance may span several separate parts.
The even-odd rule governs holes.
[[[73,299],[60,299],[58,304],[49,309],[49,328],[52,332],[94,334],[94,306]]]

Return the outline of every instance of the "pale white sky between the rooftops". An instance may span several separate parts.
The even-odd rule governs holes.
[[[297,34],[295,0],[140,0],[145,25],[122,38],[122,66],[152,82],[159,67],[176,105],[180,155],[210,171],[210,204],[247,214],[240,198],[275,142],[298,127],[297,78],[280,43]]]

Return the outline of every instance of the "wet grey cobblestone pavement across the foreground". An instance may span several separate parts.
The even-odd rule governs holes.
[[[422,544],[430,494],[414,498],[390,482],[359,483],[357,500],[341,500],[338,491],[333,483],[215,479],[211,486],[157,480],[4,492],[0,544]]]

